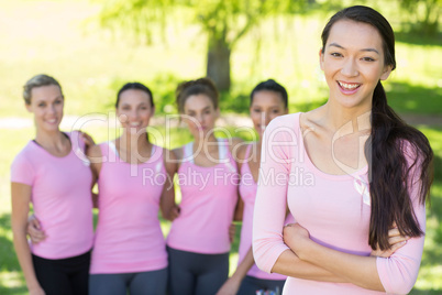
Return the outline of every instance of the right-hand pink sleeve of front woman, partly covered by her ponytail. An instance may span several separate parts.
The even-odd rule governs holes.
[[[406,157],[410,160],[416,154],[410,152],[409,144],[405,148]],[[412,156],[415,154],[415,156]],[[422,232],[426,232],[426,205],[420,199],[420,165],[410,170],[408,192],[412,200],[416,218]],[[376,266],[380,282],[388,294],[408,294],[418,278],[420,262],[422,259],[424,234],[407,241],[402,248],[389,258],[377,258]]]

